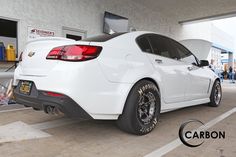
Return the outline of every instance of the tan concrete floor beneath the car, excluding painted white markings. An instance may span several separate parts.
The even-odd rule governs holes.
[[[42,131],[51,135],[45,138],[0,142],[0,156],[142,157],[177,139],[182,122],[195,118],[207,123],[236,107],[236,85],[225,82],[223,93],[222,104],[218,108],[200,105],[162,114],[158,127],[145,136],[124,133],[116,127],[114,121],[79,121],[56,127],[53,122],[63,119],[63,117],[50,116],[32,109],[8,112],[7,110],[17,106],[0,107],[0,126],[7,126],[16,121],[24,122],[29,126],[41,126],[42,124],[44,126]],[[225,157],[235,157],[235,124],[236,114],[232,114],[210,128],[210,130],[224,130],[226,139],[208,140],[198,148],[180,145],[164,156],[220,157],[219,150],[223,149]]]

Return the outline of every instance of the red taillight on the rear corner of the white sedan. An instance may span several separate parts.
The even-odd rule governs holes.
[[[102,50],[99,46],[68,45],[53,48],[47,55],[47,59],[65,61],[86,61],[98,57]]]

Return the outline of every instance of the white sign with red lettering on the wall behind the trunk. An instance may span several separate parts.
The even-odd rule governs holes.
[[[55,36],[54,31],[28,27],[28,41],[38,37],[54,37],[54,36]]]

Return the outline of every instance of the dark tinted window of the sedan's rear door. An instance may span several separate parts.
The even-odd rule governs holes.
[[[168,38],[159,35],[152,35],[148,38],[154,54],[172,59],[177,58],[177,54],[173,53],[173,47]]]

